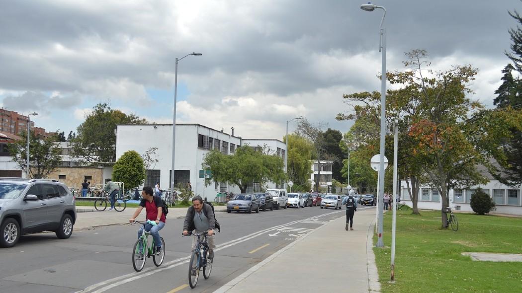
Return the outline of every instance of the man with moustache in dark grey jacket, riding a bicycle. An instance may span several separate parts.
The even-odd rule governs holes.
[[[207,233],[207,244],[208,244],[208,258],[214,258],[214,236],[212,235],[216,227],[216,217],[212,211],[212,207],[206,204],[200,196],[195,196],[192,199],[192,206],[188,207],[187,214],[185,216],[185,222],[183,223],[183,235],[188,235],[188,231],[193,234],[200,234],[208,230]],[[196,240],[192,242],[192,251],[196,249]]]

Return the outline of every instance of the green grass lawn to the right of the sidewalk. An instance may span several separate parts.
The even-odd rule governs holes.
[[[382,292],[522,292],[522,262],[479,262],[461,255],[522,253],[522,218],[456,215],[457,232],[440,228],[441,212],[422,211],[419,216],[398,211],[392,284],[392,212],[385,214],[386,247],[373,249]]]

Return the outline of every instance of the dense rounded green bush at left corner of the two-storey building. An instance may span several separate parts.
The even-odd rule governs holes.
[[[123,153],[112,168],[112,180],[123,182],[125,189],[133,189],[140,186],[143,180],[145,180],[143,158],[136,151]]]

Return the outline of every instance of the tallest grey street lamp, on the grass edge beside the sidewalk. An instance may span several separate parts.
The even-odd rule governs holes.
[[[375,9],[383,9],[383,19],[381,20],[381,40],[379,44],[379,51],[382,52],[382,69],[381,69],[381,160],[379,161],[379,172],[381,176],[378,182],[378,197],[379,202],[383,202],[384,198],[384,137],[386,135],[386,29],[383,28],[384,17],[386,16],[386,8],[383,6],[377,6],[375,4],[363,4],[361,9],[365,11],[373,11]],[[378,215],[378,231],[377,231],[377,244],[376,247],[384,247],[383,242],[383,209],[377,206],[379,210]]]

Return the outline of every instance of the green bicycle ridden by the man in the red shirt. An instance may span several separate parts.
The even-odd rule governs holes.
[[[156,254],[155,252],[156,245],[154,244],[154,238],[152,238],[150,246],[148,245],[148,237],[150,235],[150,232],[145,231],[145,225],[150,224],[148,223],[149,221],[150,220],[148,220],[147,222],[134,221],[134,223],[143,225],[143,232],[141,233],[139,239],[136,241],[136,244],[134,245],[134,249],[132,252],[132,265],[136,272],[140,272],[141,270],[143,270],[143,267],[145,266],[145,257],[152,257],[152,260],[154,261],[154,264],[156,266],[160,266],[163,263],[163,259],[165,258],[165,240],[163,240],[163,237],[160,237],[161,245],[163,247],[160,254]]]

